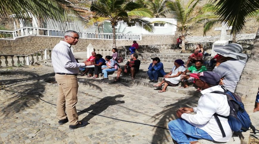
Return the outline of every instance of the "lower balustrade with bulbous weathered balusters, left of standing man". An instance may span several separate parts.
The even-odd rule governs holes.
[[[0,66],[4,61],[5,66],[32,65],[39,61],[51,59],[52,49],[40,50],[29,55],[0,55]]]

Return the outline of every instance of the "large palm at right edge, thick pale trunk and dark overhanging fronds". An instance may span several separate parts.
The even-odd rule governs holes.
[[[252,15],[253,12],[259,10],[259,0],[213,0],[219,8],[216,13],[220,16],[219,19],[225,19],[232,24],[232,33],[240,33],[244,27],[245,19]],[[259,87],[259,67],[257,65],[259,53],[259,29],[255,38],[254,48],[251,51],[251,55],[246,62],[243,69],[241,78],[238,82],[235,92],[241,96],[245,109],[248,113],[252,113],[255,96]],[[241,143],[249,143],[249,131],[243,134],[244,139],[241,139]]]

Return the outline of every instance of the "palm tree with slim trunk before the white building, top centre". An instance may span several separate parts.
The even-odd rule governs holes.
[[[115,27],[119,22],[153,32],[151,22],[143,19],[143,17],[152,18],[152,12],[143,8],[143,4],[127,0],[96,0],[91,4],[90,10],[94,15],[89,24],[110,21],[113,29],[113,47],[116,47]]]

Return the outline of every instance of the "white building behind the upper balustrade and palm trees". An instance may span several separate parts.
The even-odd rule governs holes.
[[[30,20],[26,20],[26,23],[24,24],[25,20],[20,20],[20,27],[41,27],[46,29],[54,29],[59,30],[60,28],[57,26],[58,24],[55,24],[54,22],[44,21],[41,24],[38,24],[37,18],[34,16],[30,16]],[[136,26],[128,27],[127,25],[124,25],[123,23],[119,23],[118,26],[116,26],[116,33],[124,33],[124,34],[164,34],[164,35],[174,35],[176,31],[176,24],[177,21],[174,18],[145,18],[146,20],[149,20],[150,22],[153,21],[164,21],[167,22],[165,24],[159,24],[159,23],[153,23],[154,25],[154,32],[148,32],[144,30],[143,28],[139,28]],[[171,24],[174,25],[171,25]],[[16,24],[15,29],[16,28]],[[78,32],[102,32],[102,33],[112,33],[112,27],[110,24],[110,21],[104,22],[102,27],[98,28],[96,26],[85,28],[83,25],[77,25],[75,26],[73,23],[66,23],[66,26],[64,25],[65,30],[75,30]]]

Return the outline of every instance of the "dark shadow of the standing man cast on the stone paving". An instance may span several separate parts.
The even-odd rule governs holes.
[[[80,115],[85,112],[89,113],[89,111],[92,110],[91,113],[89,113],[86,117],[84,117],[82,119],[83,121],[89,121],[91,118],[93,118],[97,114],[100,114],[101,112],[103,112],[109,106],[116,105],[119,103],[125,103],[124,100],[116,100],[116,98],[119,98],[119,97],[124,97],[124,95],[116,95],[114,97],[112,97],[112,96],[104,97],[101,100],[99,100],[98,102],[96,102],[95,104],[92,104],[91,106],[89,106],[88,108],[81,110],[77,114]]]

